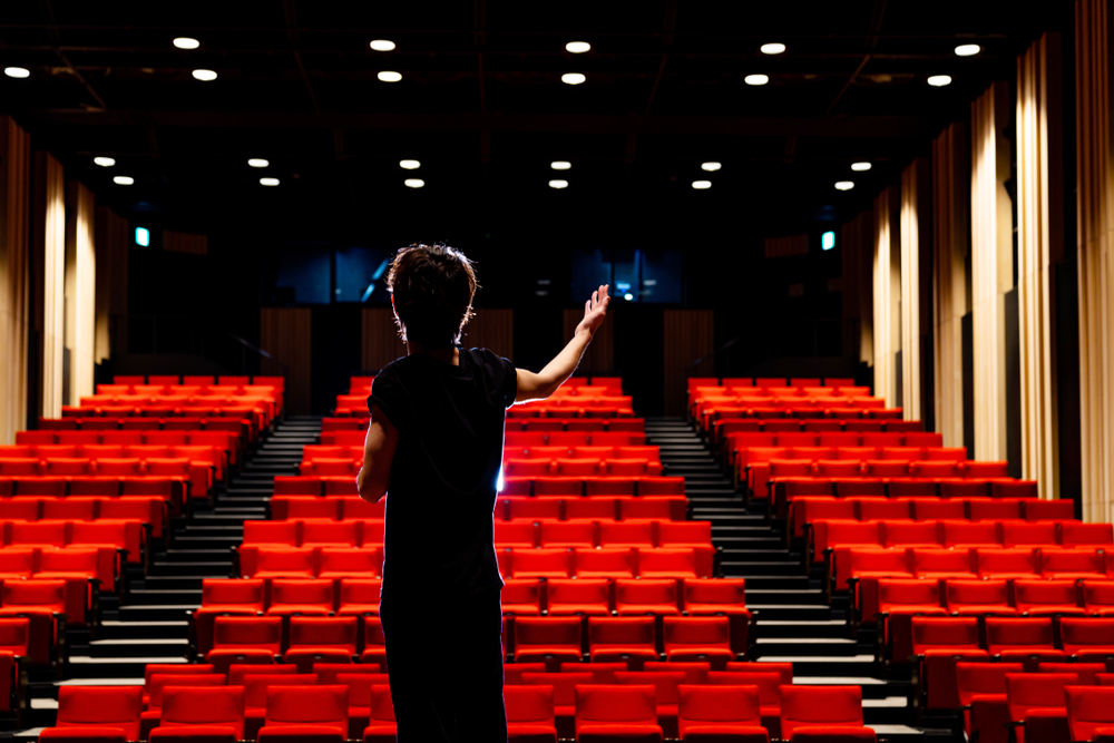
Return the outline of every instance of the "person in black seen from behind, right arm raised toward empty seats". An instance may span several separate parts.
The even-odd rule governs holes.
[[[607,314],[608,287],[534,373],[460,348],[478,287],[460,251],[404,247],[387,281],[407,355],[375,377],[356,486],[369,502],[387,495],[380,617],[398,740],[506,741],[494,511],[507,408],[544,400],[571,375]]]

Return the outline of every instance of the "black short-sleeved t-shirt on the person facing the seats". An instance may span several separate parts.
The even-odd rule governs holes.
[[[514,364],[486,349],[461,349],[459,366],[416,353],[375,377],[368,407],[379,405],[399,431],[383,597],[437,603],[502,586],[492,519],[517,390]]]

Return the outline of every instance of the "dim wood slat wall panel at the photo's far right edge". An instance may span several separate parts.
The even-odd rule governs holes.
[[[1114,501],[1114,184],[1111,183],[1110,17],[1106,0],[1075,3],[1076,208],[1083,518],[1110,521]]]

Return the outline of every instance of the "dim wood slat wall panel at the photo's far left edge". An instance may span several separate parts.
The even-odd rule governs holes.
[[[31,257],[31,139],[0,116],[0,444],[16,443],[27,421]]]

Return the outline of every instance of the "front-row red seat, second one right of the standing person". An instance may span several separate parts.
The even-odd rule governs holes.
[[[576,687],[577,743],[661,743],[654,686]]]

